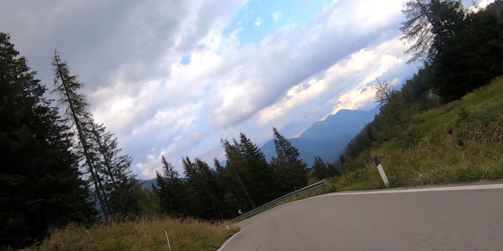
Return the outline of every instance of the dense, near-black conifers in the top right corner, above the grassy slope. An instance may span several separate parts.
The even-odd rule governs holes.
[[[435,61],[434,90],[443,102],[459,100],[503,74],[502,7],[503,2],[496,1],[479,13],[467,13],[453,36],[436,41],[442,54]],[[452,19],[449,14],[444,18]]]

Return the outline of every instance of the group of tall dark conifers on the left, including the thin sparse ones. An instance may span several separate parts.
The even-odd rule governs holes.
[[[69,222],[112,222],[148,207],[152,198],[129,169],[132,158],[94,122],[84,84],[58,52],[58,100],[45,97],[27,63],[0,33],[0,248],[39,243]]]

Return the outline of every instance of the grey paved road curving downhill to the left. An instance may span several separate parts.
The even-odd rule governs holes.
[[[497,187],[314,197],[240,222],[221,250],[501,251]]]

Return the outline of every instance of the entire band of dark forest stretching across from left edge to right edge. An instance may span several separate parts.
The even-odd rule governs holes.
[[[96,123],[78,75],[57,51],[48,87],[31,71],[7,33],[0,33],[0,248],[40,243],[70,223],[112,224],[119,216],[224,220],[310,183],[344,176],[372,161],[370,149],[400,138],[417,144],[409,127],[421,112],[459,100],[503,75],[503,1],[466,10],[461,1],[409,0],[400,30],[411,45],[408,63],[423,67],[400,91],[377,86],[381,113],[349,142],[340,160],[316,157],[312,167],[272,128],[270,162],[243,133],[221,139],[226,165],[182,157],[183,173],[162,156],[152,190],[131,172],[133,159]],[[56,100],[50,100],[48,93]],[[432,98],[432,93],[440,97]],[[334,153],[338,154],[338,153]]]

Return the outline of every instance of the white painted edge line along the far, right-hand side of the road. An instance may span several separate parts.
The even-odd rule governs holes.
[[[482,189],[498,189],[498,188],[503,188],[503,184],[490,184],[490,185],[458,185],[458,186],[448,186],[448,187],[441,187],[441,188],[409,188],[409,189],[400,189],[400,190],[371,190],[367,192],[332,192],[326,195],[316,195],[312,196],[309,198],[305,199],[299,199],[296,201],[291,201],[286,204],[282,204],[279,206],[275,206],[273,208],[270,208],[266,211],[263,211],[261,213],[258,213],[257,215],[261,215],[262,213],[265,213],[267,211],[271,211],[273,209],[290,205],[296,202],[300,201],[306,201],[307,199],[314,199],[314,198],[319,198],[319,197],[325,197],[325,196],[336,196],[336,195],[370,195],[370,194],[387,194],[387,193],[399,193],[399,192],[435,192],[435,191],[455,191],[455,190],[482,190]],[[242,222],[245,222],[247,220],[250,220],[254,218],[257,215],[253,215],[250,218],[247,218],[245,220],[242,220],[240,222],[234,223],[234,224],[240,224]],[[234,237],[234,236],[233,236]],[[231,237],[232,238],[232,237]],[[229,239],[231,240],[231,239]],[[220,251],[220,250],[217,250]]]

